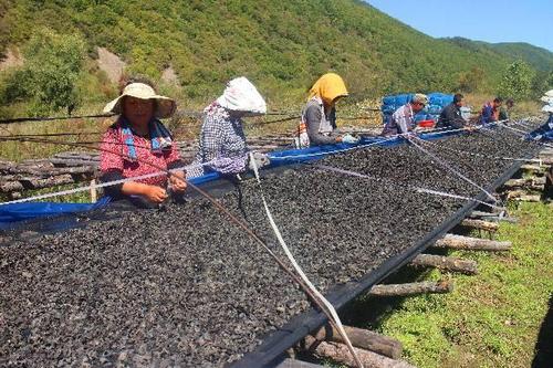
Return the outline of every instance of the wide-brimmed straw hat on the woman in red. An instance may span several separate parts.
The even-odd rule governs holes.
[[[104,113],[122,114],[122,101],[125,96],[140,99],[155,99],[156,111],[154,115],[158,118],[170,117],[177,109],[177,103],[173,98],[156,94],[154,88],[149,85],[145,83],[131,83],[123,90],[121,96],[105,105]]]

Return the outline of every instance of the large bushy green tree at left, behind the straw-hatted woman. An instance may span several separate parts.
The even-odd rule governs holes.
[[[56,34],[43,29],[23,48],[24,64],[6,81],[7,103],[29,103],[28,113],[46,115],[80,103],[77,82],[83,72],[85,44],[77,35]]]

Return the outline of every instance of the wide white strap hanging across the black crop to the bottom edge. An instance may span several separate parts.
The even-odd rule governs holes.
[[[298,274],[300,275],[300,277],[307,285],[307,287],[311,290],[311,292],[319,298],[319,301],[321,301],[321,303],[325,306],[325,309],[323,309],[324,313],[327,315],[328,319],[333,320],[334,324],[336,325],[337,330],[340,332],[340,335],[342,335],[342,337],[344,338],[344,340],[345,340],[345,343],[347,345],[347,349],[352,354],[352,356],[353,356],[355,362],[357,364],[357,366],[358,367],[363,367],[363,364],[361,362],[359,357],[355,353],[355,349],[353,348],[353,345],[352,345],[349,338],[347,337],[347,334],[346,334],[346,332],[344,329],[344,326],[342,325],[342,322],[340,320],[340,317],[338,317],[338,315],[336,313],[336,309],[334,309],[334,306],[323,296],[323,294],[321,294],[319,292],[319,290],[309,280],[309,277],[305,275],[305,273],[303,272],[303,270],[300,267],[300,265],[295,261],[292,252],[290,252],[290,249],[288,248],[286,243],[284,242],[284,239],[282,238],[282,234],[281,234],[279,228],[276,227],[276,223],[274,222],[274,219],[272,217],[271,210],[269,209],[269,206],[267,204],[265,196],[263,193],[263,187],[261,186],[261,179],[259,177],[258,166],[257,166],[255,159],[253,158],[253,155],[251,153],[250,153],[250,162],[252,162],[253,172],[255,175],[255,179],[257,179],[258,185],[259,185],[261,200],[263,201],[263,207],[264,207],[264,210],[265,210],[265,213],[267,213],[267,218],[269,219],[269,223],[271,224],[271,228],[272,228],[272,230],[273,230],[276,239],[279,240],[280,245],[284,250],[284,253],[286,254],[288,259],[292,263],[292,266],[298,272]]]

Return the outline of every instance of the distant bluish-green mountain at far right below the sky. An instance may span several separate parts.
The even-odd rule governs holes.
[[[509,59],[518,59],[526,62],[535,70],[541,72],[553,71],[553,52],[531,45],[524,42],[500,42],[488,43],[482,41],[472,41],[463,38],[444,39],[452,44],[463,49],[484,52],[491,51]]]

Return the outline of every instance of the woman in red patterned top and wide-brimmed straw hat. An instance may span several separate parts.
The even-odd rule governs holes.
[[[131,81],[121,95],[104,107],[104,113],[119,114],[104,134],[100,169],[104,182],[159,174],[159,168],[184,167],[170,133],[159,122],[175,113],[174,99],[160,96],[150,83]],[[185,171],[174,171],[169,183],[175,192],[186,189]],[[114,199],[131,199],[135,204],[163,202],[167,197],[167,176],[126,181],[106,187]],[[146,199],[146,201],[143,201]]]

